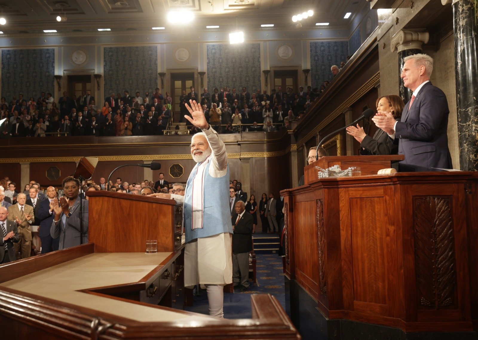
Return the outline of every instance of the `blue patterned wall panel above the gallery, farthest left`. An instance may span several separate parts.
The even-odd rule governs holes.
[[[20,93],[27,100],[36,100],[42,91],[55,97],[54,74],[54,48],[1,51],[1,95],[7,102]]]

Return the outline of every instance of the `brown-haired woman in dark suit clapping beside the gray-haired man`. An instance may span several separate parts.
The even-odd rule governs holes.
[[[377,99],[376,106],[378,113],[390,112],[395,120],[399,121],[405,104],[399,96],[389,95]],[[357,127],[349,126],[346,130],[360,143],[360,154],[398,154],[398,145],[394,144],[382,129],[377,129],[373,138],[367,135],[359,124]]]

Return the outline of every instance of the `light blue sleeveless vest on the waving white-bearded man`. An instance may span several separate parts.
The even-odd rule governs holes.
[[[216,178],[209,175],[211,162],[206,165],[204,175],[203,228],[191,230],[193,178],[198,165],[193,168],[186,183],[183,209],[186,243],[223,232],[233,233],[229,208],[229,165],[226,175]]]

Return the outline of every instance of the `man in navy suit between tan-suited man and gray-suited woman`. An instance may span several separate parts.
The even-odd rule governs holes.
[[[53,200],[56,197],[56,191],[53,186],[46,188],[46,197],[46,199],[43,199],[43,201],[40,201],[38,204],[38,219],[40,222],[39,236],[42,241],[42,254],[58,250],[58,243],[60,241],[58,237],[54,239],[50,234],[50,228],[54,218]]]

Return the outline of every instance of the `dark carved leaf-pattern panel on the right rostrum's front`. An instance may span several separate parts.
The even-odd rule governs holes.
[[[413,198],[418,308],[456,308],[456,265],[451,198]]]

